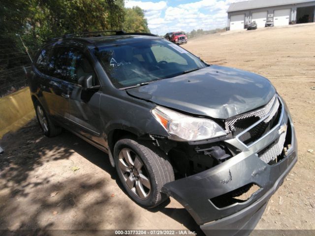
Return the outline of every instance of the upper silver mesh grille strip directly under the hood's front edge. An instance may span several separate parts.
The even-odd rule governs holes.
[[[235,119],[227,120],[226,124],[228,125],[229,129],[231,131],[233,131],[234,130],[234,124],[241,119],[246,119],[246,118],[251,118],[251,117],[257,117],[257,118],[261,119],[270,113],[270,116],[263,121],[265,123],[268,123],[274,117],[276,112],[278,111],[279,106],[280,106],[279,99],[278,99],[277,94],[275,94],[273,96],[273,98],[268,102],[268,104],[265,107],[263,107],[259,110],[253,111],[253,112],[246,114],[244,116],[241,116],[241,117],[238,117]]]

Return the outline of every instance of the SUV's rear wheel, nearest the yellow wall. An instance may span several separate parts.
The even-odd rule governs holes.
[[[54,137],[61,133],[62,128],[56,126],[47,112],[43,108],[43,106],[38,102],[34,102],[34,108],[36,113],[36,118],[39,123],[39,126],[43,132],[43,134],[47,137]]]

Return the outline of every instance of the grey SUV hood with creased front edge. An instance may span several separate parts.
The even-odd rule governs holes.
[[[187,113],[226,119],[267,104],[276,89],[260,75],[212,65],[127,93]]]

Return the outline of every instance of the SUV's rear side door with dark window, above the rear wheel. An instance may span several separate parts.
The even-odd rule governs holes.
[[[65,47],[52,47],[49,50],[49,60],[47,63],[44,100],[47,104],[50,115],[64,122],[67,110],[67,89],[64,84],[66,76],[66,63],[68,51]]]

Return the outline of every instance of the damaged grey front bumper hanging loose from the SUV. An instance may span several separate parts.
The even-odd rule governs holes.
[[[269,198],[296,163],[295,131],[282,100],[281,103],[279,122],[260,139],[250,146],[238,137],[226,140],[241,152],[209,170],[163,186],[162,192],[180,202],[206,235],[249,235]],[[260,159],[261,153],[268,153],[272,145],[279,143],[284,132],[287,148],[275,163],[265,163]],[[257,190],[247,199],[235,197],[246,193],[251,186]]]

